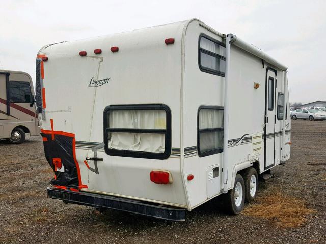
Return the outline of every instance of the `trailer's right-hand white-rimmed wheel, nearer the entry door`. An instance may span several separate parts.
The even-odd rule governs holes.
[[[258,190],[258,174],[255,168],[250,167],[243,171],[244,180],[244,196],[246,197],[246,202],[252,202],[257,196]]]

